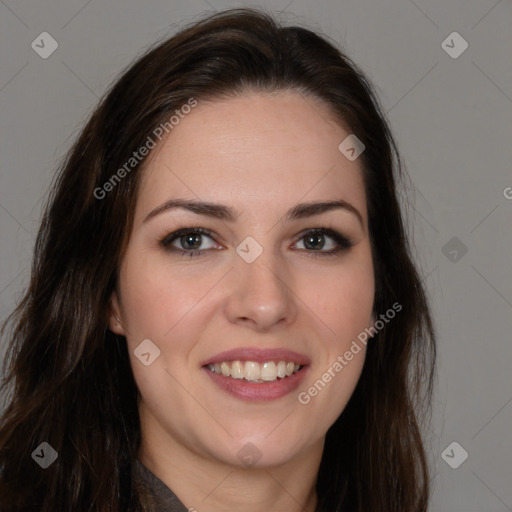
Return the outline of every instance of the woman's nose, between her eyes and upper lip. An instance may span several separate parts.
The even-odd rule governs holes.
[[[226,304],[230,322],[264,332],[295,321],[297,297],[291,274],[270,251],[263,251],[252,263],[238,258],[230,279]]]

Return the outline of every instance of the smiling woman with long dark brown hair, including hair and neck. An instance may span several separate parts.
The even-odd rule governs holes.
[[[11,317],[2,511],[427,510],[434,329],[371,86],[231,10],[140,58]]]

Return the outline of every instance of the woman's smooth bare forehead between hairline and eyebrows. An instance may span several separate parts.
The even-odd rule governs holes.
[[[151,155],[136,221],[180,197],[269,218],[301,201],[343,199],[366,222],[360,161],[338,150],[348,135],[327,105],[295,91],[199,101]]]

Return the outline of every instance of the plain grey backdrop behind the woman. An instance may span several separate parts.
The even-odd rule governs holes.
[[[330,36],[361,66],[406,162],[439,334],[431,510],[512,511],[510,1],[0,1],[0,319],[28,283],[56,166],[107,85],[183,24],[258,5]],[[31,48],[45,31],[59,45],[47,59]],[[458,58],[441,44],[454,31],[469,45]],[[457,469],[441,456],[453,441],[469,454]],[[463,452],[451,450],[454,465]]]

